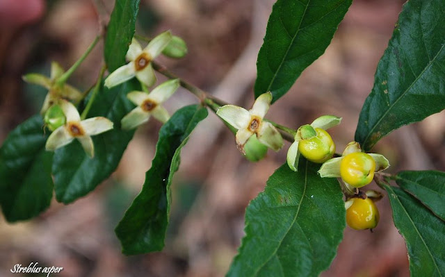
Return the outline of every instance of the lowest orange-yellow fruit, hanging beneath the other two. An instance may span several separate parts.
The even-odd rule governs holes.
[[[346,210],[346,223],[355,230],[372,229],[377,226],[380,214],[374,202],[367,198],[351,199],[353,204]]]

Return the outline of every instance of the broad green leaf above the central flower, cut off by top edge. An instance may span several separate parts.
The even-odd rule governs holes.
[[[258,53],[255,97],[272,92],[273,102],[330,44],[352,0],[278,0]]]

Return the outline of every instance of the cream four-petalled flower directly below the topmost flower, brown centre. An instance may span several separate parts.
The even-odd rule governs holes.
[[[154,118],[161,122],[165,122],[170,118],[168,111],[165,110],[161,103],[167,100],[175,93],[179,87],[179,79],[166,81],[157,86],[152,92],[133,91],[127,94],[127,98],[137,105],[128,115],[120,121],[122,129],[129,130],[136,128],[140,124],[145,123],[153,115]]]

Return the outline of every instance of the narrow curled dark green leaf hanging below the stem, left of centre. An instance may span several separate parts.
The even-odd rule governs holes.
[[[181,149],[193,128],[206,117],[206,108],[186,106],[162,126],[156,155],[142,191],[115,229],[125,255],[163,249],[170,210],[170,185],[179,167]]]

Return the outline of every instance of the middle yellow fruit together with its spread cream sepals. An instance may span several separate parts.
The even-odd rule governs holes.
[[[325,162],[318,174],[321,177],[341,178],[348,190],[363,187],[373,180],[374,172],[385,170],[389,161],[376,153],[364,153],[358,142],[350,142],[339,158]]]

